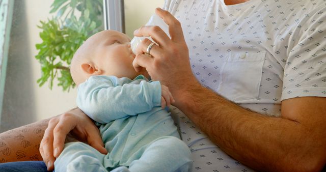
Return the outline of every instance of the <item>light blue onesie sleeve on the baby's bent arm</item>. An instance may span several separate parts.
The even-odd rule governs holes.
[[[116,85],[108,76],[91,76],[77,91],[77,106],[91,119],[108,123],[160,106],[159,81]]]

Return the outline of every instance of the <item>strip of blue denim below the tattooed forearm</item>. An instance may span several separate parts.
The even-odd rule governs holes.
[[[43,161],[19,161],[0,163],[0,172],[47,172]]]

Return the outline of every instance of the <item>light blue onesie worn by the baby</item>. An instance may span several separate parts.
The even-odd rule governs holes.
[[[189,148],[166,109],[161,85],[143,75],[131,80],[91,76],[78,87],[77,106],[96,121],[108,154],[83,142],[65,145],[56,171],[189,171]]]

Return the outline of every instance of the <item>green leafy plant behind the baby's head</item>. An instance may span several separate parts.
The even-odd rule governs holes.
[[[63,91],[75,87],[70,75],[70,63],[77,48],[91,35],[103,30],[102,0],[55,0],[50,13],[57,13],[52,19],[40,21],[42,43],[35,58],[41,64],[42,76],[37,80],[41,87],[45,82]],[[79,16],[79,17],[76,17]]]

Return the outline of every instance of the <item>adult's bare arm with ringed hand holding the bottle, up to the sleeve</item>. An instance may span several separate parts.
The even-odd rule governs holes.
[[[153,58],[138,53],[135,69],[144,67],[153,80],[166,84],[174,105],[240,162],[263,171],[321,170],[326,162],[326,98],[284,100],[280,118],[236,105],[200,85],[189,65],[180,22],[167,11],[156,13],[169,25],[171,40],[157,26],[135,31],[135,36],[151,36],[159,45],[150,51]],[[143,41],[138,51],[146,52],[149,44]]]

